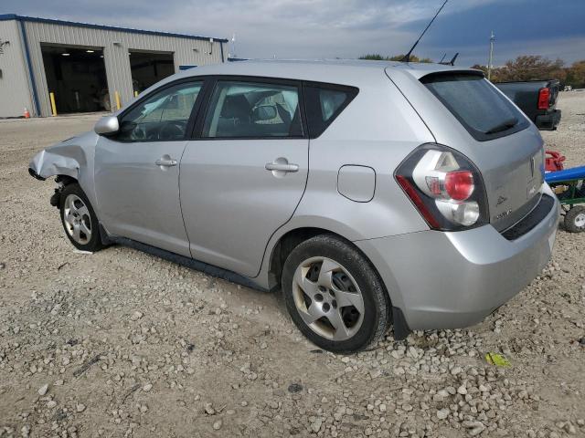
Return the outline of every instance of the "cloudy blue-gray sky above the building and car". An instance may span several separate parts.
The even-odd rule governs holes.
[[[239,57],[359,57],[406,52],[441,0],[3,0],[0,14],[230,38]],[[551,8],[551,5],[554,5]],[[585,59],[585,0],[450,0],[415,53],[495,65],[520,54]],[[231,47],[230,47],[231,49]]]

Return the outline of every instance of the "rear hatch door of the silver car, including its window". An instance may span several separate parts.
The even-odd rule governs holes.
[[[473,70],[410,72],[410,78],[388,70],[436,141],[461,151],[478,167],[490,223],[498,231],[537,205],[544,182],[543,141],[501,91]]]

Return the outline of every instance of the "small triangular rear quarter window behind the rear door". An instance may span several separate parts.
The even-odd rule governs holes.
[[[309,83],[304,86],[309,137],[319,137],[357,95],[354,87]]]

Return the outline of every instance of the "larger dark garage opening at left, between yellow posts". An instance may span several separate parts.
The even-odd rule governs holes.
[[[41,45],[48,91],[58,114],[110,110],[101,48]]]

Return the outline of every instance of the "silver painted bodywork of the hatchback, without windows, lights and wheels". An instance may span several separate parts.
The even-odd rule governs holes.
[[[552,194],[541,172],[531,175],[531,158],[542,168],[543,141],[533,126],[494,141],[474,141],[418,80],[440,70],[459,69],[374,61],[194,68],[146,93],[177,78],[233,74],[350,85],[359,94],[310,141],[120,144],[91,132],[39,152],[30,167],[43,177],[78,178],[109,234],[193,256],[249,276],[261,287],[272,286],[271,257],[283,235],[305,227],[341,235],[376,267],[410,328],[462,327],[513,297],[546,265],[558,202],[515,241],[499,233],[527,214],[540,193]],[[491,217],[510,214],[468,231],[429,230],[393,172],[416,147],[433,141],[463,152],[482,172]],[[375,172],[373,193],[365,175],[354,185],[356,175],[341,172],[340,183],[347,164]],[[537,193],[528,199],[532,184]],[[356,203],[368,194],[368,202]]]

